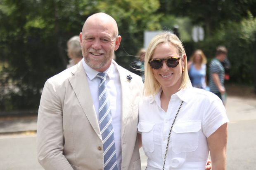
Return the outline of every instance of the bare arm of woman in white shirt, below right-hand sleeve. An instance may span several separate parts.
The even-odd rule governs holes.
[[[211,154],[212,170],[226,170],[227,141],[228,123],[221,125],[207,138]]]

